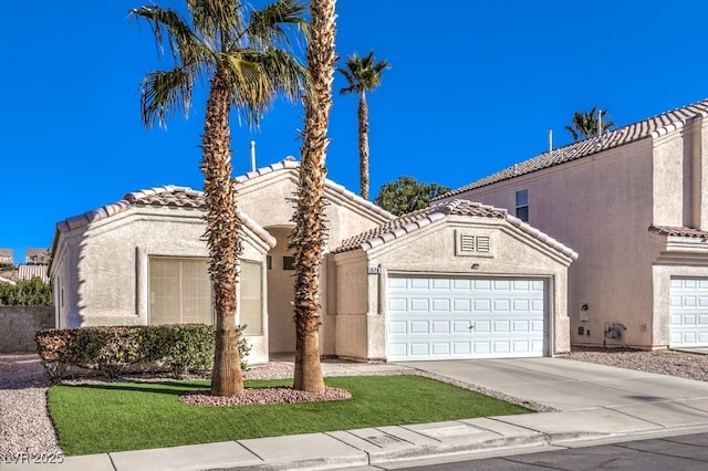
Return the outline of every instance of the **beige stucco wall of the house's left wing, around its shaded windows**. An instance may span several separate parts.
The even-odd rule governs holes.
[[[202,218],[196,209],[134,207],[61,233],[50,273],[58,326],[149,324],[149,258],[208,258]],[[270,247],[247,228],[242,237],[241,258],[264,265]],[[248,338],[250,363],[268,360],[267,338],[264,320],[263,335]]]

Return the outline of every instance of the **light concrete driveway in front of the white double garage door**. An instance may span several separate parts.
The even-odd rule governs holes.
[[[559,410],[708,402],[708,383],[564,358],[400,363]]]

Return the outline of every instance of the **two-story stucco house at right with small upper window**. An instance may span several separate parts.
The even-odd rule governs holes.
[[[708,101],[548,153],[437,199],[509,208],[575,249],[573,344],[708,346]]]

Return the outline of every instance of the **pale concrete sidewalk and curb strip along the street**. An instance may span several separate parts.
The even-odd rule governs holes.
[[[597,412],[597,410],[594,410]],[[559,412],[549,412],[559,414]],[[576,419],[573,412],[568,419]],[[539,423],[545,414],[531,415]],[[602,415],[601,415],[602,416]],[[67,457],[52,469],[79,471],[127,470],[329,470],[400,465],[424,460],[473,459],[518,454],[542,449],[580,448],[658,437],[708,432],[708,422],[625,431],[538,431],[509,423],[522,416],[490,417],[451,422],[382,427],[204,443],[185,447]],[[539,420],[540,419],[540,420]],[[612,426],[612,423],[608,423]],[[496,430],[494,430],[496,429]],[[33,469],[37,468],[33,464]],[[3,470],[28,464],[2,465]],[[41,468],[41,465],[40,465]]]

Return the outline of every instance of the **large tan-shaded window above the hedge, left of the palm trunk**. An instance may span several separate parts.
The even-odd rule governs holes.
[[[150,324],[214,324],[204,259],[149,259]]]

